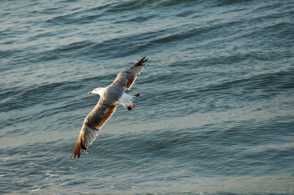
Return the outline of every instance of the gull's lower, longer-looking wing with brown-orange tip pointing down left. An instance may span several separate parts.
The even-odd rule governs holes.
[[[78,136],[78,142],[74,149],[74,153],[71,155],[71,158],[76,156],[78,158],[81,155],[82,149],[86,150],[89,145],[93,143],[98,135],[98,130],[106,123],[106,121],[112,116],[115,112],[116,105],[108,105],[102,101],[98,101],[97,105],[86,117],[83,127],[81,129],[80,135]]]

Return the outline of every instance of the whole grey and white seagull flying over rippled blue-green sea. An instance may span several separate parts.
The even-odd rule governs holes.
[[[73,156],[74,159],[76,156],[79,158],[82,149],[86,150],[89,145],[93,143],[98,135],[98,130],[101,129],[115,112],[115,103],[123,105],[128,110],[135,108],[132,102],[133,97],[138,97],[140,94],[128,95],[124,91],[126,91],[126,89],[131,89],[137,78],[136,74],[140,74],[143,71],[145,66],[144,62],[148,60],[148,58],[146,60],[145,58],[146,56],[132,67],[118,73],[116,79],[108,87],[98,87],[89,92],[89,94],[100,95],[100,99],[83,123],[80,135],[78,136],[78,142],[76,143],[71,158]]]

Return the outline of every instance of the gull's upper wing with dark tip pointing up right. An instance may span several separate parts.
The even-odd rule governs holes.
[[[118,73],[116,79],[113,81],[111,85],[121,85],[125,89],[130,90],[137,78],[136,74],[140,74],[144,69],[144,63],[148,60],[148,58],[146,60],[145,58],[146,56],[144,56],[139,62],[137,62],[132,67]]]

